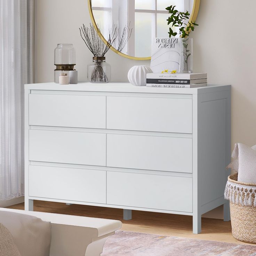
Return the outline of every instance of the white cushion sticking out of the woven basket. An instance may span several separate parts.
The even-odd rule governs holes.
[[[232,157],[234,161],[228,167],[238,171],[237,180],[256,184],[256,145],[249,147],[245,144],[237,143]]]

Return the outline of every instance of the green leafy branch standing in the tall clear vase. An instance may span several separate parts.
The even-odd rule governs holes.
[[[173,27],[179,27],[179,34],[182,38],[182,44],[184,47],[183,50],[183,56],[184,56],[184,71],[188,71],[188,59],[191,56],[190,50],[188,49],[188,36],[191,31],[194,31],[194,26],[198,26],[195,22],[189,21],[190,13],[189,11],[181,12],[175,9],[176,6],[169,6],[166,8],[166,10],[169,11],[170,17],[167,19],[167,24],[170,25],[169,27],[169,37],[173,36],[175,37],[177,35],[177,32],[173,31]]]

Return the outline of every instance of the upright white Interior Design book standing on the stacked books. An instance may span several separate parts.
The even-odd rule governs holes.
[[[180,38],[155,38],[152,40],[151,70],[179,70],[181,60]]]

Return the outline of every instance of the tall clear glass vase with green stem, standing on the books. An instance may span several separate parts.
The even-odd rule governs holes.
[[[181,38],[179,73],[193,72],[193,38]]]

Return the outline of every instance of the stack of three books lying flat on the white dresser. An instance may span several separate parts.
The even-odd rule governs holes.
[[[193,88],[207,86],[206,73],[148,73],[147,87]]]

